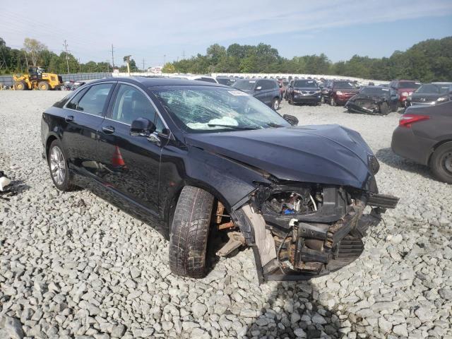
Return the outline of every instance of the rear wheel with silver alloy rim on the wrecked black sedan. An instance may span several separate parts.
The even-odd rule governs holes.
[[[76,188],[69,177],[69,166],[64,155],[64,150],[58,140],[52,141],[47,154],[50,176],[55,187],[60,191],[73,191]]]

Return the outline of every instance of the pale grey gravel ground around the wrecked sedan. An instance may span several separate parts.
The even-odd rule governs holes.
[[[172,275],[167,242],[89,191],[54,189],[40,114],[65,93],[0,92],[0,338],[452,338],[452,186],[391,153],[398,113],[292,107],[300,124],[362,133],[396,210],[347,268],[304,283],[255,285],[251,250],[207,278]]]

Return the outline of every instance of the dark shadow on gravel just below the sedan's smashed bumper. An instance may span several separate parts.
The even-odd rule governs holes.
[[[340,318],[310,280],[279,282],[267,297],[261,316],[246,331],[247,338],[343,338]],[[331,299],[333,296],[331,296]]]

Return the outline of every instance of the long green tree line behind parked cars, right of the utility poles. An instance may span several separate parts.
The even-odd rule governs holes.
[[[395,78],[419,81],[452,81],[452,37],[419,42],[391,57],[354,55],[350,60],[332,62],[325,54],[287,59],[269,44],[213,44],[205,55],[168,63],[164,71],[179,73],[307,73],[354,76],[389,81]]]

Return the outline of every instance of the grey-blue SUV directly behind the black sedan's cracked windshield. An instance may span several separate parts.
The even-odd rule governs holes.
[[[273,79],[243,79],[236,81],[232,87],[253,95],[273,109],[280,108],[280,86]]]

